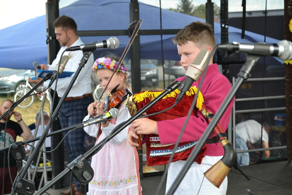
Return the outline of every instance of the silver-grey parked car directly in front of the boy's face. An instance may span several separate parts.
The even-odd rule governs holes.
[[[180,61],[165,60],[163,67],[165,74],[174,75],[175,78],[185,76],[185,69]]]

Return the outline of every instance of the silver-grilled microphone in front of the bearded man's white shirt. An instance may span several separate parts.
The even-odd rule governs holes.
[[[83,45],[72,46],[65,51],[77,51],[77,50],[87,50],[87,49],[103,49],[103,48],[110,48],[110,49],[117,49],[120,45],[120,41],[117,37],[110,37],[104,41],[97,41],[94,43],[88,43]]]

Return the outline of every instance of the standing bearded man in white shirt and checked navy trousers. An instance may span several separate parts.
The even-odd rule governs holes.
[[[60,61],[62,52],[71,46],[77,46],[84,44],[80,37],[77,37],[77,25],[75,21],[65,15],[60,16],[54,22],[56,39],[59,41],[60,51],[57,54],[57,58],[53,61],[52,65],[40,64],[41,69],[44,70],[54,70],[57,63]],[[67,65],[64,71],[76,72],[79,62],[83,57],[82,51],[66,51],[64,55],[68,56]],[[91,73],[92,73],[92,63],[93,54],[90,55],[84,68],[81,69],[77,80],[74,82],[72,89],[70,90],[65,102],[63,103],[60,111],[59,118],[62,128],[66,128],[72,125],[83,122],[83,118],[87,115],[87,106],[92,103],[93,97],[91,96]],[[73,74],[74,75],[74,74]],[[72,76],[58,79],[57,93],[61,98],[72,79]],[[29,78],[30,83],[38,83],[41,78],[32,80]],[[44,82],[44,88],[48,87],[50,81]],[[55,89],[55,82],[51,86],[51,89]],[[65,135],[67,132],[64,132]],[[77,129],[71,132],[65,138],[65,144],[69,151],[70,159],[73,161],[79,155],[85,153],[84,147],[84,137],[85,132],[82,129]],[[74,183],[77,186],[77,193],[80,193],[80,183],[74,179]],[[75,188],[73,188],[73,194],[75,193]],[[77,194],[76,193],[76,194]],[[70,191],[60,192],[62,195],[69,195]],[[81,194],[81,193],[80,193]]]

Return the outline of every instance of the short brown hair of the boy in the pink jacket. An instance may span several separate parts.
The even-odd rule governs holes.
[[[193,41],[199,49],[204,49],[206,46],[213,49],[216,46],[212,26],[206,22],[202,23],[200,21],[192,22],[185,26],[172,38],[172,41],[180,46],[187,43],[187,41]]]

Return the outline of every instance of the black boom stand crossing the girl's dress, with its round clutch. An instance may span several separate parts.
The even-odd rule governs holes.
[[[116,127],[112,133],[107,136],[105,139],[100,141],[98,144],[96,144],[92,149],[90,149],[88,152],[86,152],[84,155],[78,156],[72,163],[67,165],[67,168],[62,171],[59,175],[57,175],[53,180],[48,182],[44,187],[42,187],[39,191],[37,191],[34,195],[40,195],[46,192],[48,189],[50,189],[56,182],[58,182],[62,177],[67,175],[70,171],[74,175],[74,177],[81,183],[80,184],[80,192],[82,195],[85,195],[88,191],[88,183],[93,178],[93,169],[89,165],[87,158],[90,158],[95,153],[97,153],[101,146],[103,146],[104,142],[109,141],[112,139],[115,135],[117,135],[119,132],[121,132],[125,127],[127,127],[131,122],[133,122],[136,118],[138,118],[140,115],[142,115],[145,111],[147,111],[149,108],[151,108],[155,103],[157,103],[159,100],[161,100],[164,96],[167,94],[173,92],[175,89],[177,89],[180,86],[179,81],[173,82],[171,85],[166,87],[166,89],[155,99],[153,99],[150,103],[148,103],[145,107],[143,107],[141,110],[139,110],[135,115],[133,115],[131,118],[129,118],[126,122],[119,125],[119,127]]]

